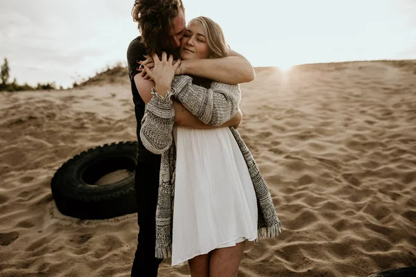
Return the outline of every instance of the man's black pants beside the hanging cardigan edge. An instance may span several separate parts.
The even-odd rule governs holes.
[[[136,200],[139,235],[135,261],[132,265],[132,277],[157,276],[157,269],[163,259],[155,258],[156,206],[159,189],[160,156],[137,161]]]

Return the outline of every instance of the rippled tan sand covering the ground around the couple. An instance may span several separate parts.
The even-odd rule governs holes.
[[[247,243],[239,276],[367,276],[416,266],[416,61],[256,73],[241,86],[239,130],[283,234]],[[0,129],[0,276],[130,276],[137,215],[67,217],[50,188],[74,155],[135,141],[128,78],[2,92]],[[188,275],[187,264],[171,267],[170,259],[159,268],[159,276]]]

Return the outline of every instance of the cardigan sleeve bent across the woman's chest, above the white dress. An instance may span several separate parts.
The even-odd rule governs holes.
[[[203,123],[219,126],[239,110],[240,87],[237,84],[213,82],[209,89],[192,84],[187,75],[175,76],[172,82],[175,99]]]

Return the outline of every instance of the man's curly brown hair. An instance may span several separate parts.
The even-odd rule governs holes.
[[[149,55],[159,55],[164,42],[171,39],[169,31],[180,10],[185,11],[182,0],[135,0],[133,21],[137,22]]]

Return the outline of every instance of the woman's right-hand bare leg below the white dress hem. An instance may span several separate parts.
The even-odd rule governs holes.
[[[245,241],[235,247],[218,248],[211,251],[209,258],[209,276],[236,277],[243,258]]]

